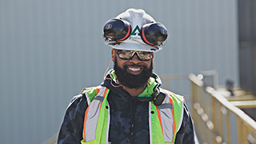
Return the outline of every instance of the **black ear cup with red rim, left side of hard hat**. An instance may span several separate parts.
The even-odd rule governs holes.
[[[103,31],[104,37],[110,41],[124,41],[130,37],[131,26],[125,20],[113,18],[106,22]]]

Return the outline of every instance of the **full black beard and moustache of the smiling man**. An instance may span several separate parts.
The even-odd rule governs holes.
[[[150,68],[143,66],[143,70],[140,74],[130,74],[127,72],[127,65],[123,66],[123,69],[118,66],[117,58],[114,61],[114,71],[118,78],[118,82],[123,86],[130,89],[139,89],[146,85],[148,79],[150,78],[153,70],[153,61],[151,59]],[[130,65],[130,66],[141,66],[141,65]]]

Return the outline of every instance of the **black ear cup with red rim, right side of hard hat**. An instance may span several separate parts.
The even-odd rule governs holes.
[[[161,23],[148,23],[142,26],[141,37],[150,46],[160,46],[167,38],[167,30]]]

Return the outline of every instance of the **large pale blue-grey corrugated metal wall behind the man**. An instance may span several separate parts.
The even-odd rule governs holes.
[[[102,82],[110,62],[103,24],[130,7],[169,30],[156,73],[218,70],[219,84],[238,84],[234,0],[0,0],[2,143],[41,143],[58,131],[72,96]],[[174,82],[171,90],[189,93],[186,80]]]

